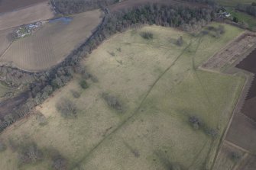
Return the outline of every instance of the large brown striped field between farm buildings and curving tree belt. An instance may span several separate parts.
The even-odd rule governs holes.
[[[102,21],[100,16],[101,11],[95,10],[73,15],[67,23],[49,21],[31,36],[12,43],[0,61],[28,71],[49,69],[92,34]]]

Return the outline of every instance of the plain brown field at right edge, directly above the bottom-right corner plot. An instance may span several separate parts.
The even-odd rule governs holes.
[[[245,114],[235,114],[225,140],[256,153],[256,123]]]

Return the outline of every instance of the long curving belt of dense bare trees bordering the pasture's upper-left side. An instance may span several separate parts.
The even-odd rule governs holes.
[[[30,85],[31,98],[28,98],[26,103],[19,106],[13,113],[6,115],[4,120],[0,120],[0,131],[15,120],[29,114],[33,107],[41,104],[57,88],[66,85],[72,79],[74,72],[92,79],[93,76],[80,65],[80,60],[92,53],[92,50],[96,49],[103,40],[113,34],[143,24],[157,24],[165,27],[186,25],[186,27],[193,28],[196,24],[206,24],[212,21],[213,18],[215,18],[215,11],[212,8],[189,8],[159,4],[141,5],[115,14],[109,14],[109,11],[105,10],[105,18],[92,36],[79,48],[73,50],[62,63],[52,69],[37,73],[22,72],[10,67],[0,69],[0,74],[5,77],[9,84],[22,85],[22,83],[28,83],[22,82],[24,78],[28,77],[33,82]],[[12,75],[17,79],[15,83],[11,82]]]

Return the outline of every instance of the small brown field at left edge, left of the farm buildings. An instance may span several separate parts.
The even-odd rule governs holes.
[[[13,29],[0,30],[0,56],[5,52],[5,50],[11,45],[11,38],[9,35],[13,32]]]

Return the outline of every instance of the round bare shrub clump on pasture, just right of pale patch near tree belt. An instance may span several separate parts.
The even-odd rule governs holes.
[[[56,104],[56,108],[63,117],[73,117],[77,114],[76,104],[66,98],[60,99]]]

